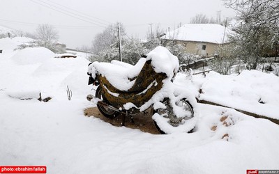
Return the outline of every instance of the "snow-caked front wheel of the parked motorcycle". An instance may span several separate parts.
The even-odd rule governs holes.
[[[194,117],[193,106],[190,104],[190,102],[188,102],[185,98],[176,102],[176,106],[179,106],[179,109],[183,113],[185,113],[185,116],[173,116],[174,118],[170,116],[174,113],[172,106],[170,106],[169,104],[169,101],[165,100],[163,104],[165,104],[166,106],[165,109],[153,109],[153,113],[158,113],[158,117],[153,117],[153,122],[161,134],[170,134],[172,132],[172,129],[174,129],[174,132],[176,132],[178,129],[180,129],[181,132],[193,131],[195,123],[193,124],[193,121],[188,121]]]

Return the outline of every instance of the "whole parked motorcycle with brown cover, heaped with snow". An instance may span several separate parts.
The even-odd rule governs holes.
[[[165,47],[156,47],[136,65],[96,61],[89,64],[87,74],[89,84],[98,88],[95,97],[87,95],[87,100],[97,104],[107,118],[152,109],[153,122],[161,133],[190,132],[195,127],[197,102],[185,87],[173,83],[178,70],[178,58]]]

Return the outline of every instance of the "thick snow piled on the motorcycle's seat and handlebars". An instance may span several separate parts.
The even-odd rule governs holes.
[[[88,72],[96,78],[96,73],[102,74],[107,78],[112,86],[119,90],[128,90],[135,84],[130,81],[136,77],[146,60],[151,60],[153,68],[156,72],[165,72],[167,77],[174,77],[174,73],[179,69],[178,58],[172,55],[165,47],[156,47],[147,55],[147,58],[140,58],[136,65],[130,65],[120,61],[112,61],[111,63],[93,62],[89,65]]]

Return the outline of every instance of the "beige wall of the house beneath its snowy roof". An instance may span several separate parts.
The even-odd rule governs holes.
[[[172,40],[164,40],[165,45],[167,42],[173,42]],[[193,42],[193,41],[183,41],[183,40],[174,40],[174,44],[183,45],[184,51],[190,54],[197,54],[199,56],[212,57],[216,53],[216,48],[219,46],[215,43],[209,42]],[[206,46],[203,50],[203,45]]]

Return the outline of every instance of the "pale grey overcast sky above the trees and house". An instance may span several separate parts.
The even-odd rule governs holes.
[[[234,11],[222,0],[0,0],[0,25],[33,33],[38,24],[51,24],[69,48],[90,46],[96,33],[121,22],[130,37],[144,38],[150,24],[162,29],[187,24],[203,13],[222,19]]]

